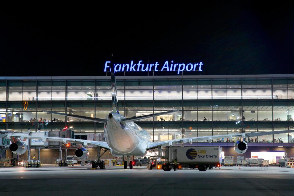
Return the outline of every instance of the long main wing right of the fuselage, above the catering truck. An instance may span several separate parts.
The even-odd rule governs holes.
[[[227,135],[211,135],[211,136],[201,136],[201,137],[193,137],[193,138],[183,138],[183,139],[176,139],[176,140],[167,140],[167,141],[161,141],[161,142],[149,142],[148,148],[153,149],[157,148],[158,146],[171,146],[174,144],[180,144],[180,143],[191,143],[191,142],[198,142],[198,141],[204,141],[208,140],[211,141],[213,139],[221,139],[221,138],[232,138],[232,137],[243,137],[243,138],[250,138],[250,137],[256,137],[261,135],[273,135],[273,134],[280,134],[280,133],[293,133],[294,130],[281,130],[281,131],[265,131],[265,132],[255,132],[255,133],[235,133],[235,134],[227,134]]]

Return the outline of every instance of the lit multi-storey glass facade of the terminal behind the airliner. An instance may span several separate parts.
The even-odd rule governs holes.
[[[77,133],[103,133],[103,124],[43,112],[95,118],[108,115],[110,78],[76,78],[0,80],[0,130],[60,130],[68,126]],[[179,110],[136,122],[154,141],[294,128],[294,78],[150,78],[120,76],[116,85],[120,113],[126,118]],[[292,143],[292,135],[260,136],[249,141]]]

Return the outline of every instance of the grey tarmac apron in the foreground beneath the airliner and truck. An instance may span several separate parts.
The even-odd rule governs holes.
[[[0,195],[294,195],[294,168],[221,167],[177,172],[89,166],[0,168]]]

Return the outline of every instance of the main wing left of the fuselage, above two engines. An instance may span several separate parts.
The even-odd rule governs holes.
[[[0,134],[0,138],[4,138],[4,137],[7,137],[7,139],[10,139],[11,137],[21,138],[21,140],[24,140],[27,138],[28,139],[36,139],[36,140],[43,140],[43,142],[56,141],[56,142],[62,142],[64,144],[71,142],[71,143],[76,143],[76,144],[82,144],[84,146],[93,145],[93,146],[100,146],[102,148],[109,149],[109,146],[106,142],[93,141],[93,140],[81,140],[81,139],[74,139],[74,138],[56,138],[56,137],[24,135],[24,134],[15,134],[15,133]]]

